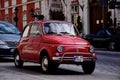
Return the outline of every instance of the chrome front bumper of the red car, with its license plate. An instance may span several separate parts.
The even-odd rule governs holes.
[[[73,54],[74,56],[68,57],[66,55]],[[84,57],[82,55],[89,54],[92,55],[91,57]],[[85,62],[85,61],[95,61],[96,58],[94,58],[94,55],[92,53],[86,53],[86,52],[66,52],[62,56],[54,56],[52,57],[53,61],[73,61],[73,62]]]

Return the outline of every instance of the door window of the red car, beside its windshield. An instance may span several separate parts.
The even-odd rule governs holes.
[[[40,35],[40,25],[39,24],[33,24],[31,26],[30,36],[37,36],[37,35]]]

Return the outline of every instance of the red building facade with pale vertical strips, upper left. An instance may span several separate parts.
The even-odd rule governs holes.
[[[30,15],[33,8],[40,14],[40,0],[0,0],[0,20],[17,25],[23,31],[28,22],[34,20]]]

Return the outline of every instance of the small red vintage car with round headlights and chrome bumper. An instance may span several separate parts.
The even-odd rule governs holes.
[[[49,72],[60,64],[82,65],[91,74],[95,69],[96,53],[90,43],[79,36],[73,24],[64,21],[35,21],[28,24],[14,51],[16,67],[25,61],[41,64]]]

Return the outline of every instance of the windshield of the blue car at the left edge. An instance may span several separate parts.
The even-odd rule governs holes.
[[[20,31],[12,24],[0,23],[0,34],[20,34]]]

